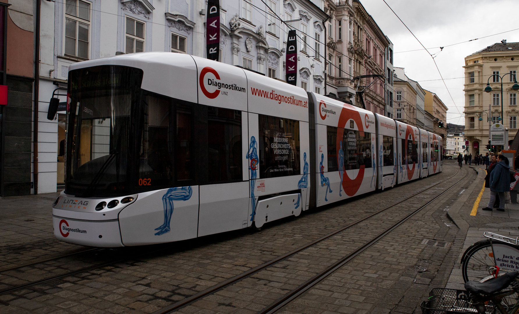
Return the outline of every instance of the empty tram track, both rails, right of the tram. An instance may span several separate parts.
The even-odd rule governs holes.
[[[176,302],[168,307],[165,307],[165,308],[162,308],[158,311],[155,311],[153,312],[153,314],[168,314],[168,313],[171,313],[171,312],[174,312],[174,311],[177,311],[177,310],[180,310],[181,308],[184,308],[190,304],[193,304],[197,301],[199,301],[200,299],[202,299],[203,297],[206,297],[208,295],[211,295],[211,294],[214,294],[215,292],[217,291],[220,291],[226,287],[229,287],[231,286],[232,284],[235,284],[247,277],[250,277],[254,274],[257,274],[259,272],[261,272],[261,270],[264,270],[274,264],[277,264],[283,260],[286,260],[288,258],[290,258],[291,256],[299,253],[299,252],[302,252],[303,250],[307,249],[307,248],[310,248],[312,246],[315,246],[316,244],[319,244],[320,242],[322,242],[323,240],[325,239],[328,239],[334,235],[337,235],[347,229],[350,229],[351,227],[355,226],[355,225],[358,225],[359,223],[367,220],[367,219],[370,219],[376,215],[378,215],[379,213],[382,213],[398,204],[401,204],[405,201],[407,201],[408,199],[414,197],[414,196],[417,196],[433,187],[435,187],[436,185],[438,184],[441,184],[453,177],[455,177],[459,172],[459,169],[456,169],[456,173],[436,184],[433,184],[431,185],[430,187],[426,188],[426,189],[423,189],[411,196],[408,196],[404,199],[402,199],[401,201],[399,202],[396,202],[390,206],[387,206],[379,211],[376,211],[374,213],[371,213],[370,215],[368,216],[365,216],[353,223],[350,223],[344,227],[341,227],[327,235],[324,235],[322,237],[320,237],[319,239],[316,239],[312,242],[309,242],[308,244],[304,245],[304,246],[301,246],[293,251],[290,251],[288,253],[285,253],[281,256],[278,256],[277,258],[275,259],[272,259],[270,260],[269,262],[266,262],[266,263],[263,263],[261,265],[258,265],[256,267],[253,267],[239,275],[236,275],[234,277],[231,277],[227,280],[224,280],[206,290],[203,290],[197,294],[194,294],[192,296],[189,296],[189,297],[186,297],[185,299],[179,301],[179,302]],[[440,194],[434,196],[432,199],[430,199],[428,202],[426,202],[424,205],[421,205],[420,207],[418,207],[417,209],[413,210],[411,213],[409,213],[407,216],[405,216],[403,219],[399,220],[397,223],[394,223],[393,225],[391,225],[388,229],[384,230],[383,232],[379,233],[375,238],[372,238],[371,240],[365,242],[362,246],[360,246],[359,248],[357,248],[356,250],[354,250],[353,252],[351,252],[350,254],[344,256],[342,259],[338,260],[336,263],[334,263],[333,265],[327,267],[326,269],[324,269],[322,272],[318,273],[317,275],[313,276],[312,278],[310,278],[309,280],[305,281],[303,284],[299,285],[296,289],[290,291],[288,294],[285,294],[283,297],[281,297],[280,299],[276,300],[274,303],[270,304],[269,306],[267,306],[266,308],[264,308],[263,310],[261,311],[258,311],[257,313],[258,314],[270,314],[270,313],[274,313],[276,312],[279,308],[283,307],[284,305],[288,304],[289,302],[291,302],[294,298],[296,298],[297,296],[301,295],[302,293],[304,293],[305,291],[307,291],[308,289],[310,289],[311,287],[315,286],[316,283],[318,283],[319,281],[321,281],[322,279],[324,279],[325,277],[329,276],[330,274],[332,274],[336,269],[342,267],[344,264],[346,264],[347,262],[349,262],[351,259],[355,258],[357,255],[359,255],[360,253],[362,253],[364,250],[366,250],[367,248],[371,247],[373,244],[375,244],[375,242],[377,242],[378,240],[380,240],[381,238],[383,238],[385,235],[387,235],[388,233],[390,233],[391,231],[393,231],[395,228],[397,228],[398,226],[400,226],[402,223],[404,223],[405,221],[407,221],[409,218],[413,217],[417,212],[419,212],[421,209],[427,207],[428,205],[430,205],[433,201],[435,201],[436,199],[438,199],[438,197],[440,197],[441,195],[445,194],[447,191],[449,191],[450,189],[454,188],[458,183],[460,183],[462,180],[464,180],[465,178],[467,178],[468,176],[468,171],[466,170],[466,175],[461,178],[460,180],[458,180],[456,183],[450,185],[449,188],[445,189],[443,192],[441,192]]]

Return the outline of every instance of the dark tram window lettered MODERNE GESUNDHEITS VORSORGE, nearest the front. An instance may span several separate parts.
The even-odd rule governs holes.
[[[299,175],[299,121],[259,116],[260,178]]]

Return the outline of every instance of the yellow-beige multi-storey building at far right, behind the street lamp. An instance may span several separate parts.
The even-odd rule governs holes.
[[[485,151],[482,147],[488,144],[492,124],[499,122],[508,127],[510,142],[517,133],[518,92],[512,90],[512,85],[519,67],[518,58],[519,42],[506,40],[465,57],[465,137],[472,154]],[[497,75],[503,77],[502,81]],[[490,93],[484,92],[487,82],[492,89]],[[504,117],[501,117],[501,102]],[[502,120],[498,120],[499,117]]]

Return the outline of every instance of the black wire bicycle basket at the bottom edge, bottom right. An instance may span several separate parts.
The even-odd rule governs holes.
[[[429,292],[429,298],[420,304],[423,314],[477,313],[465,290],[435,288]],[[494,305],[485,305],[485,313],[494,312]]]

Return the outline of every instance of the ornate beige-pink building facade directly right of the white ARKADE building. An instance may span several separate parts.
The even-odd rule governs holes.
[[[327,92],[362,107],[356,92],[367,87],[363,94],[366,109],[386,116],[389,39],[358,0],[327,1],[326,12],[331,17],[326,22],[331,30],[327,38]],[[380,77],[357,78],[362,75]]]

